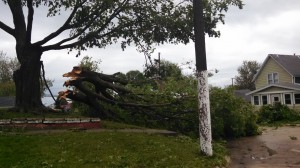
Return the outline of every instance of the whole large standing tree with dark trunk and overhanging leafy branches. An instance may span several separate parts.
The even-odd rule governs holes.
[[[134,44],[139,51],[153,44],[188,43],[194,39],[192,2],[187,0],[2,0],[13,16],[14,27],[0,21],[0,29],[15,38],[21,64],[14,73],[16,107],[22,111],[43,108],[40,94],[41,56],[50,50],[104,48],[120,42],[122,49]],[[205,5],[205,32],[218,37],[217,22],[224,22],[229,5],[241,0],[212,1]],[[33,42],[34,11],[48,8],[48,17],[69,14],[56,31]],[[25,9],[25,10],[24,10]],[[42,8],[44,10],[45,8]],[[62,11],[64,10],[64,11]],[[27,19],[25,19],[27,15]],[[40,30],[39,30],[40,31]],[[69,32],[69,37],[64,36]]]

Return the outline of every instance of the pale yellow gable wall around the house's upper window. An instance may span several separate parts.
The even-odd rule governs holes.
[[[256,89],[268,85],[268,74],[278,73],[279,83],[292,83],[293,76],[279,65],[271,56],[268,56],[255,78]]]

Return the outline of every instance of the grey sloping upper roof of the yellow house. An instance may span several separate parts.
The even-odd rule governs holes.
[[[284,70],[286,70],[291,76],[300,77],[300,55],[282,55],[282,54],[269,54],[265,61],[263,62],[261,68],[253,78],[256,80],[265,64],[269,59],[273,59],[278,65],[280,65]]]

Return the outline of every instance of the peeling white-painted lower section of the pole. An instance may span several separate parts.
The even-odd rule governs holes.
[[[211,117],[207,75],[207,71],[196,72],[198,80],[199,135],[201,152],[207,156],[212,156]]]

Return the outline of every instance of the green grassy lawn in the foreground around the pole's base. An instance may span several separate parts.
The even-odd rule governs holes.
[[[0,111],[0,119],[10,117],[39,116]],[[109,129],[139,128],[109,121],[103,125]],[[214,156],[203,156],[199,154],[198,140],[186,136],[118,131],[29,134],[0,130],[1,168],[214,168],[226,164],[225,155],[225,144],[216,142]]]

